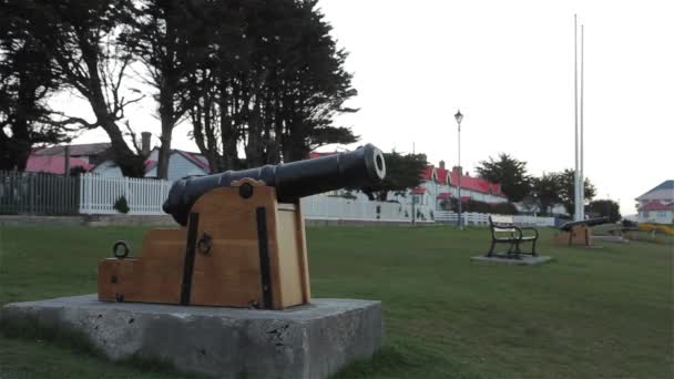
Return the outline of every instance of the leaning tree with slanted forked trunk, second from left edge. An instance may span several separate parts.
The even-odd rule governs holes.
[[[86,129],[102,127],[110,137],[115,163],[125,176],[142,176],[144,158],[124,137],[135,134],[120,122],[126,105],[141,96],[125,98],[124,79],[131,55],[118,43],[129,22],[132,0],[8,0],[8,12],[21,19],[39,38],[64,88],[74,90],[91,105],[95,121],[64,117]]]

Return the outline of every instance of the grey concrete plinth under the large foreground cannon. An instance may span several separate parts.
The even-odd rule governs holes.
[[[283,311],[101,303],[14,303],[4,328],[70,330],[112,360],[137,356],[217,378],[327,378],[381,346],[379,301],[314,299]]]

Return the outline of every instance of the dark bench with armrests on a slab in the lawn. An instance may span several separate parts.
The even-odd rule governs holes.
[[[491,229],[491,247],[489,248],[488,257],[504,257],[509,259],[521,259],[522,254],[537,256],[535,242],[539,239],[539,232],[533,227],[518,227],[514,225],[512,216],[489,216],[489,228]],[[524,231],[533,232],[533,234],[524,234]],[[531,243],[531,252],[522,252],[520,246],[523,243]],[[494,253],[497,244],[509,244],[510,247],[506,254]]]

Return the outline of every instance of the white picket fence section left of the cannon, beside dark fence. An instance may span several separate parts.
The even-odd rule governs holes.
[[[162,204],[173,183],[150,178],[80,175],[81,214],[119,214],[114,203],[126,198],[130,215],[163,215]]]

